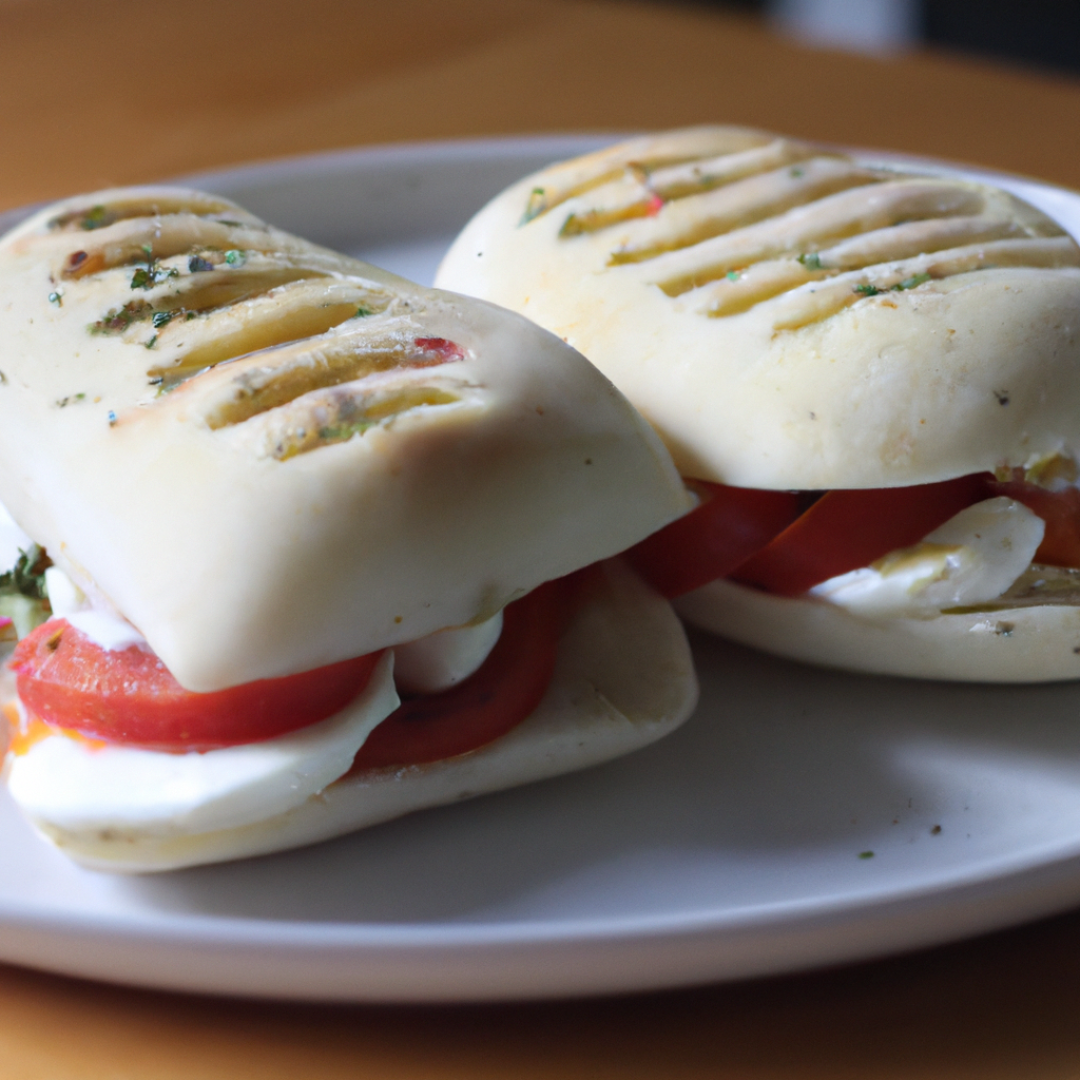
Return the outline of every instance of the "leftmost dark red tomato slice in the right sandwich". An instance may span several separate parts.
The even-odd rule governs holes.
[[[626,553],[667,599],[726,577],[799,516],[794,491],[690,483],[701,502]]]

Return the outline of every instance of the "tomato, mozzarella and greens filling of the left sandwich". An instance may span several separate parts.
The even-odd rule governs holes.
[[[4,516],[0,542],[22,540]],[[492,742],[543,697],[575,590],[572,580],[552,582],[475,626],[193,693],[135,627],[91,606],[57,567],[41,570],[48,557],[31,550],[45,582],[41,595],[25,598],[44,621],[8,664],[17,696],[2,703],[4,771],[31,819],[72,832],[238,828],[285,813],[347,774]],[[24,550],[16,566],[26,562]],[[14,568],[0,580],[13,579]],[[5,636],[16,636],[11,621]]]

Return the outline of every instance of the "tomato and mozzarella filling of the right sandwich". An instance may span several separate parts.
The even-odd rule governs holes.
[[[870,618],[1080,604],[1070,465],[826,492],[697,482],[698,507],[631,559],[671,598],[728,579]]]

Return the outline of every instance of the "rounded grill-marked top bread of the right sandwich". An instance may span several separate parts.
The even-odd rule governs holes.
[[[928,483],[1080,459],[1080,248],[999,189],[734,127],[489,203],[436,284],[580,349],[684,475]]]

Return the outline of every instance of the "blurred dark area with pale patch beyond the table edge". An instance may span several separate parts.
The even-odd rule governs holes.
[[[711,0],[711,5],[764,15],[806,44],[868,53],[943,45],[1080,71],[1078,0]]]

